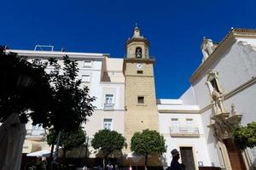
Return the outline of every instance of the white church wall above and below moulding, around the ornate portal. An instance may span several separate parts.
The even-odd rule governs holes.
[[[241,40],[243,42],[241,42]],[[247,42],[245,42],[247,41]],[[250,81],[256,76],[256,52],[254,47],[248,45],[249,42],[256,44],[255,40],[236,39],[236,42],[227,48],[215,63],[207,67],[195,82],[192,83],[195,92],[195,98],[200,109],[210,105],[210,94],[205,84],[207,82],[207,71],[213,69],[218,71],[218,82],[224,94],[230,93],[235,88],[238,88],[243,83]],[[255,105],[256,85],[253,84],[247,89],[235,94],[224,101],[224,106],[227,111],[231,110],[231,104],[236,105],[236,111],[241,113],[241,124],[245,125],[248,122],[256,120],[256,105]],[[215,166],[220,164],[216,148],[216,140],[212,137],[212,131],[207,127],[210,123],[212,110],[207,110],[201,114],[204,133],[206,136],[207,150],[209,151],[210,160]]]

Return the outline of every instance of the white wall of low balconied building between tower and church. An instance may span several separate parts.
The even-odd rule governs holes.
[[[185,127],[186,118],[192,118],[195,127],[199,128],[199,137],[171,137],[170,127],[171,119],[178,118],[179,127]],[[167,151],[164,154],[166,161],[164,165],[169,165],[172,161],[171,150],[179,150],[180,146],[191,146],[194,150],[195,166],[197,167],[198,161],[203,161],[204,166],[211,166],[211,162],[208,157],[206,139],[202,127],[200,114],[182,114],[182,113],[160,113],[159,114],[159,129],[160,133],[164,135],[166,139]],[[166,164],[167,163],[167,164]]]

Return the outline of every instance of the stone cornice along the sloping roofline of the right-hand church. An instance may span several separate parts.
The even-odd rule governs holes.
[[[230,32],[218,43],[218,47],[212,52],[212,54],[202,63],[196,71],[192,74],[189,81],[195,82],[195,80],[201,76],[201,74],[214,63],[224,51],[229,48],[234,42],[236,37],[251,37],[256,38],[256,30],[253,29],[241,29],[236,28],[230,30]]]

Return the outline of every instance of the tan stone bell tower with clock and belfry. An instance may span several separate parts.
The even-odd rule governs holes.
[[[143,129],[158,131],[158,111],[154,88],[154,59],[148,54],[149,42],[136,26],[125,44],[125,139],[131,152],[131,137]]]

